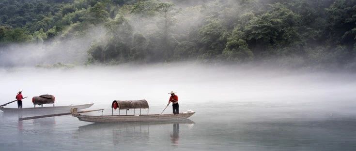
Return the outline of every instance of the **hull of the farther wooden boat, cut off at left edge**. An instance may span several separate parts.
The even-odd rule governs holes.
[[[69,105],[69,106],[58,106],[58,107],[37,107],[37,108],[0,108],[3,112],[68,112],[71,108],[77,108],[78,110],[90,108],[94,103],[82,104],[82,105]]]

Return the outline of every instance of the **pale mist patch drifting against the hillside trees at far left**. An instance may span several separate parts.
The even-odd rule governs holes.
[[[93,41],[103,38],[105,29],[98,26],[81,37],[61,37],[47,42],[18,43],[0,47],[0,67],[35,67],[58,62],[83,65]]]

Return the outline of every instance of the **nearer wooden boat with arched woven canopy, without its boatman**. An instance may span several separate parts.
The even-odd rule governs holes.
[[[111,107],[114,107],[114,103],[118,104],[119,110],[127,109],[148,109],[148,103],[146,100],[134,100],[134,101],[113,101]],[[71,109],[71,114],[77,117],[80,121],[92,122],[92,123],[117,123],[117,122],[149,122],[149,121],[174,121],[180,119],[186,119],[192,116],[194,111],[187,111],[179,114],[139,114],[139,115],[82,115],[77,113],[77,109]]]

